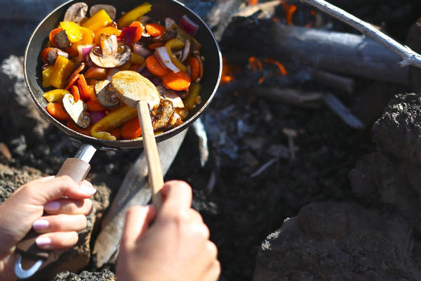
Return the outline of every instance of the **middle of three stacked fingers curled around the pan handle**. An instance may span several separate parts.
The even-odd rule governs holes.
[[[81,231],[86,228],[84,215],[53,215],[43,216],[32,223],[32,228],[37,233],[55,233],[68,231]]]

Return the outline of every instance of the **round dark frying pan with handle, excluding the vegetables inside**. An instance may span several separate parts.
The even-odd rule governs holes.
[[[75,181],[82,181],[91,168],[88,163],[91,160],[91,157],[95,154],[96,150],[142,148],[143,143],[141,139],[108,141],[86,136],[69,129],[46,111],[47,101],[42,96],[44,93],[41,73],[43,62],[41,61],[40,54],[47,44],[48,34],[51,30],[58,26],[60,21],[62,21],[67,8],[76,2],[80,1],[67,1],[65,4],[58,6],[58,8],[55,8],[55,10],[48,14],[44,20],[41,20],[39,25],[36,27],[32,36],[29,38],[29,42],[25,50],[24,76],[29,93],[34,100],[36,107],[38,107],[44,117],[57,126],[58,129],[67,133],[67,135],[76,141],[76,143],[80,144],[76,155],[65,161],[60,171],[58,171],[58,175],[67,174],[72,176]],[[91,7],[94,4],[113,5],[117,10],[117,18],[121,15],[121,12],[130,11],[143,3],[143,1],[138,0],[84,0],[83,2],[88,4],[88,7]],[[176,22],[178,22],[182,15],[187,15],[190,19],[196,22],[196,24],[199,25],[199,30],[197,31],[195,38],[202,44],[201,55],[205,59],[203,63],[203,79],[201,80],[201,104],[196,106],[192,112],[189,112],[189,116],[185,122],[180,124],[180,126],[156,135],[156,142],[160,142],[165,141],[166,139],[171,138],[172,136],[175,136],[187,129],[187,127],[191,125],[204,110],[206,110],[218,89],[218,84],[222,74],[222,55],[220,53],[218,43],[206,23],[184,4],[175,0],[147,0],[147,2],[152,4],[152,11],[147,14],[151,18],[160,20],[161,22],[163,22],[165,18],[173,18]],[[49,252],[41,251],[41,249],[36,247],[34,242],[35,238],[36,233],[30,232],[27,237],[18,244],[18,261],[15,263],[15,273],[21,279],[33,275],[41,267],[42,261],[48,259]],[[36,261],[36,263],[33,264],[33,262],[29,262],[31,264],[31,268],[23,269],[22,264],[27,263],[25,259],[27,259],[27,261]]]

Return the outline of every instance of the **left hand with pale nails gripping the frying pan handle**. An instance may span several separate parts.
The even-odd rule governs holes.
[[[47,264],[73,247],[77,232],[86,228],[95,188],[88,181],[76,183],[69,176],[39,178],[22,185],[0,205],[0,280],[16,280],[15,245],[33,228],[41,249],[51,249]],[[44,212],[48,216],[44,215]]]

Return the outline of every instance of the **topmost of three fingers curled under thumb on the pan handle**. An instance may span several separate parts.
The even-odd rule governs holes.
[[[89,199],[71,200],[63,198],[48,202],[44,205],[47,214],[83,214],[88,216],[93,209],[93,203]]]

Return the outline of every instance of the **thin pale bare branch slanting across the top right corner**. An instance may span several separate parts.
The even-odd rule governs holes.
[[[380,32],[379,30],[375,29],[375,27],[373,27],[373,25],[370,25],[368,22],[364,22],[363,20],[356,18],[354,15],[343,11],[341,8],[338,8],[337,6],[329,4],[328,2],[323,0],[300,1],[312,5],[316,8],[319,8],[319,10],[328,13],[328,15],[331,15],[334,18],[337,18],[338,20],[347,23],[348,25],[354,27],[356,30],[359,30],[362,34],[374,39],[375,41],[388,48],[390,51],[393,51],[394,53],[398,54],[403,59],[401,62],[398,63],[401,67],[413,65],[415,67],[421,68],[420,54],[415,53],[408,46],[403,46],[399,44],[397,41],[388,37],[383,32]]]

